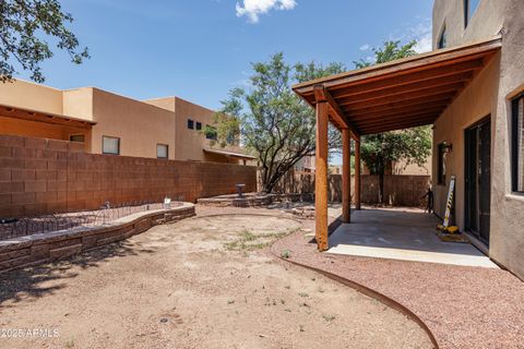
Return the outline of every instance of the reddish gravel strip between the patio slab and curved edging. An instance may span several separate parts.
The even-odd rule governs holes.
[[[314,221],[310,221],[311,229]],[[297,232],[272,250],[371,288],[413,311],[442,349],[524,348],[524,282],[501,269],[319,253]]]

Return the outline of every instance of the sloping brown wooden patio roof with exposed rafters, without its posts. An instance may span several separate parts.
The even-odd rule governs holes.
[[[432,124],[500,50],[500,36],[293,86],[354,136]]]

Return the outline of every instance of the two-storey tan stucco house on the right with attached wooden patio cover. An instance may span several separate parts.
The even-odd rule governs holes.
[[[455,178],[454,222],[496,263],[524,278],[524,1],[436,0],[433,51],[294,86],[317,110],[319,250],[327,237],[327,124],[343,135],[343,173],[360,139],[433,125],[434,208]],[[355,145],[352,147],[352,142]],[[343,176],[342,220],[350,220]]]

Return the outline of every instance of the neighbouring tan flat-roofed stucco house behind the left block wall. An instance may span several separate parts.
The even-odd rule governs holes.
[[[239,146],[218,147],[201,131],[213,115],[178,97],[141,101],[95,87],[0,83],[0,134],[83,142],[93,154],[251,163]]]

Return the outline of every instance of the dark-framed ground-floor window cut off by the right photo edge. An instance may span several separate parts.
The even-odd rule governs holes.
[[[524,94],[513,99],[513,191],[524,193]]]

